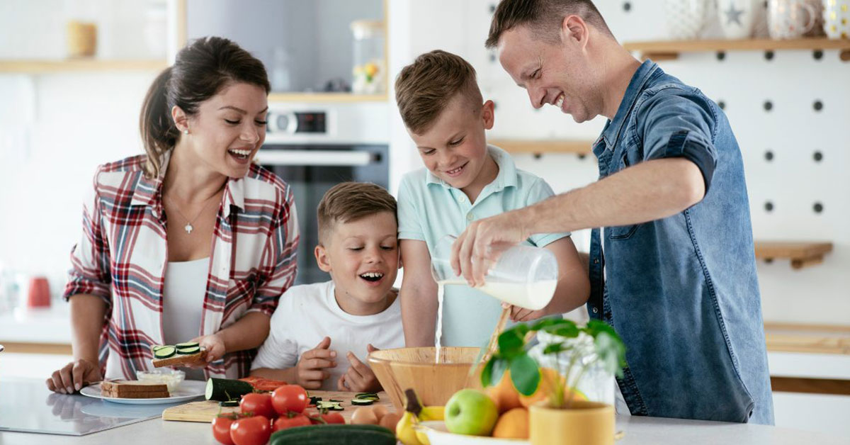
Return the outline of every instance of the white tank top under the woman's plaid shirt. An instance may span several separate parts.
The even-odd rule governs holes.
[[[201,314],[207,294],[210,259],[168,262],[162,291],[162,334],[166,345],[201,335]],[[186,379],[203,380],[203,370],[181,368]]]

